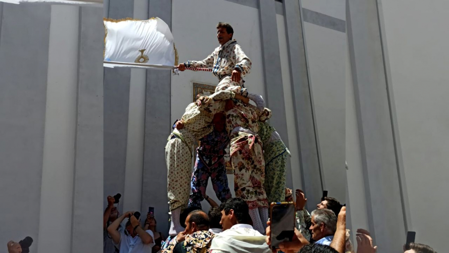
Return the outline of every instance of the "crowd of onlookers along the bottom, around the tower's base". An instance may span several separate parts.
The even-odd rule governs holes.
[[[287,189],[286,200],[291,200]],[[289,195],[290,192],[290,195]],[[208,213],[197,207],[186,208],[182,220],[184,230],[178,235],[165,239],[156,230],[156,220],[148,213],[143,225],[134,212],[120,215],[113,206],[113,198],[108,197],[108,207],[104,212],[103,253],[375,253],[370,233],[357,230],[357,251],[352,247],[346,229],[346,206],[333,198],[324,198],[309,214],[304,208],[304,192],[296,191],[296,222],[291,242],[283,242],[278,249],[271,245],[271,221],[267,222],[264,233],[253,227],[250,209],[241,198],[230,198],[218,205],[210,202]],[[335,213],[329,208],[339,206]],[[304,217],[304,218],[303,218]],[[121,224],[125,218],[125,226]],[[182,215],[181,215],[182,218]],[[11,242],[12,243],[12,242]],[[8,244],[9,253],[20,253],[12,248],[18,244]],[[20,246],[19,246],[20,247]],[[410,243],[404,245],[404,253],[436,253],[427,245]]]

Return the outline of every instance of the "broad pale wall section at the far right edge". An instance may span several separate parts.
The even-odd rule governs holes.
[[[405,7],[406,8],[405,8]],[[449,221],[449,2],[382,1],[381,10],[416,242],[437,252]],[[443,29],[443,30],[442,30]],[[443,197],[443,198],[442,198]]]

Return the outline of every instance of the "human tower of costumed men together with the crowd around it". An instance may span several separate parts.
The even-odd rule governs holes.
[[[202,61],[186,61],[178,68],[211,68],[219,79],[215,93],[189,104],[172,128],[165,147],[167,192],[171,212],[169,236],[156,231],[148,214],[141,226],[136,212],[119,214],[108,197],[104,212],[104,253],[345,253],[354,252],[346,230],[346,206],[330,197],[316,209],[305,208],[306,194],[297,189],[295,199],[286,188],[286,160],[290,155],[279,133],[268,123],[271,111],[263,98],[250,93],[243,77],[251,60],[233,37],[227,23],[217,25],[220,43]],[[256,105],[249,103],[252,100]],[[195,165],[193,144],[199,141]],[[225,169],[229,148],[233,176],[232,198]],[[221,204],[206,196],[209,178]],[[191,194],[190,194],[191,193]],[[212,208],[206,213],[202,201]],[[294,233],[289,241],[271,246],[269,203],[294,202]],[[122,227],[122,222],[128,218]],[[369,232],[358,230],[358,253],[376,251]],[[408,247],[408,248],[407,248]],[[415,245],[404,248],[407,253]],[[413,248],[414,247],[414,248]]]

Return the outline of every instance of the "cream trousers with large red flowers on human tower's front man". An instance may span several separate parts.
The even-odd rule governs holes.
[[[231,138],[235,197],[246,201],[249,209],[268,207],[264,189],[265,160],[259,137],[237,132]]]

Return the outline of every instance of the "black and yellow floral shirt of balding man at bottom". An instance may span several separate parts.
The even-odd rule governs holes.
[[[178,247],[181,247],[181,251],[187,253],[207,253],[211,248],[214,237],[215,234],[207,230],[196,231],[191,235],[185,236],[183,242],[178,243],[177,240],[171,241],[167,249],[162,250],[162,253],[173,253]]]

